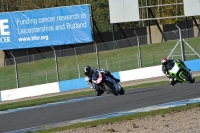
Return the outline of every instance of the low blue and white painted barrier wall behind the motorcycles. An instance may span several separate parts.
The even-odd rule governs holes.
[[[192,72],[200,71],[200,59],[185,61]],[[161,65],[112,73],[121,82],[163,76]],[[0,92],[0,101],[45,95],[50,93],[88,88],[85,78],[29,86]]]

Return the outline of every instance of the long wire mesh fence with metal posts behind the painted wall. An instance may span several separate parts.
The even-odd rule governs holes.
[[[194,29],[181,32],[190,46],[200,53],[200,38],[195,37]],[[162,35],[167,41],[163,41]],[[99,61],[95,45],[6,59],[5,66],[0,68],[0,90],[84,77],[83,68],[88,65],[92,68],[100,65],[110,72],[159,65],[161,57],[167,57],[180,41],[178,30],[162,35],[151,35],[157,42],[154,44],[148,44],[149,36],[98,43]],[[199,58],[187,45],[183,52],[185,60]],[[178,45],[170,58],[181,59],[181,56],[181,45]]]

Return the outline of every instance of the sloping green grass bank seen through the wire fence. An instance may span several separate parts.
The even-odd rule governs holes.
[[[200,53],[200,38],[190,38],[186,41]],[[167,57],[177,40],[141,45],[143,67],[160,65],[161,57]],[[181,59],[180,45],[175,49],[173,58]],[[193,53],[185,45],[187,53]],[[138,68],[138,47],[127,47],[99,52],[100,67],[110,72],[130,70]],[[178,56],[177,56],[178,55]],[[187,55],[186,60],[197,59],[196,55]],[[106,65],[107,64],[107,65]],[[83,68],[90,65],[97,68],[96,53],[88,53],[77,56],[65,56],[58,58],[58,70],[60,81],[84,77]],[[17,65],[19,87],[57,82],[56,65],[54,58],[39,61],[20,63]],[[0,68],[0,90],[17,88],[15,66]]]

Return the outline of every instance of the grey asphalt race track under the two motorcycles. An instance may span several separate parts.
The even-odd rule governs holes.
[[[200,97],[200,81],[126,90],[122,96],[103,94],[66,99],[65,102],[0,113],[0,132],[66,122],[113,112]],[[85,99],[86,98],[86,99]],[[71,101],[71,102],[67,102]],[[2,105],[1,105],[2,106]]]

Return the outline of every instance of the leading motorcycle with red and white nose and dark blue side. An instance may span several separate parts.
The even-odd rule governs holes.
[[[114,79],[99,71],[93,73],[92,83],[107,94],[112,93],[117,96],[125,93],[125,90]]]

